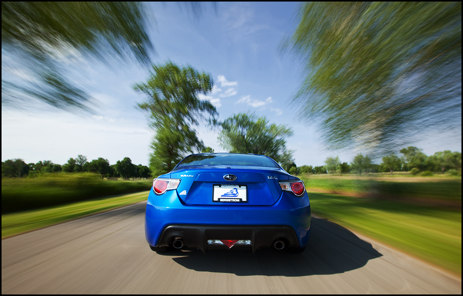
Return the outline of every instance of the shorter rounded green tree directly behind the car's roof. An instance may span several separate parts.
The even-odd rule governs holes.
[[[291,128],[269,124],[266,117],[239,113],[222,122],[218,140],[229,152],[267,155],[286,170],[293,166],[292,151],[286,148],[285,140],[292,134]]]

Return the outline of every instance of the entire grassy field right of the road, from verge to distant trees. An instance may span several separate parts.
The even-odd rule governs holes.
[[[461,276],[461,177],[300,178],[314,214]]]

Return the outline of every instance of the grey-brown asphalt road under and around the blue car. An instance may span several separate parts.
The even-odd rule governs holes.
[[[302,254],[152,252],[145,202],[2,240],[2,294],[461,294],[461,278],[313,218]]]

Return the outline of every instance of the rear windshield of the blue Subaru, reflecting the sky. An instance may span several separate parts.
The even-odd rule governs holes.
[[[177,168],[189,166],[257,166],[280,168],[266,156],[239,153],[193,154],[182,160]]]

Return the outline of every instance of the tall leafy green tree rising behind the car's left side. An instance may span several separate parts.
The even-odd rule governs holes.
[[[147,100],[137,106],[149,111],[149,125],[156,131],[150,170],[157,176],[172,170],[188,154],[205,149],[191,127],[200,121],[217,125],[218,113],[209,100],[198,98],[212,90],[214,81],[209,74],[191,66],[180,68],[171,61],[153,65],[153,70],[148,81],[136,84],[134,89],[146,95]]]

